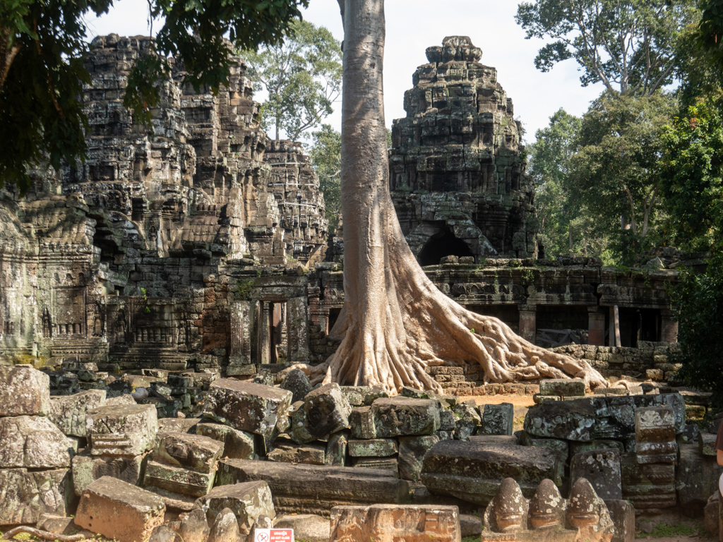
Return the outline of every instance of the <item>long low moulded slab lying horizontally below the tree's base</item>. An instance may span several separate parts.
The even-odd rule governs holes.
[[[248,481],[267,482],[276,512],[285,514],[328,515],[330,509],[344,504],[400,504],[409,494],[406,481],[384,470],[221,460],[218,486]]]

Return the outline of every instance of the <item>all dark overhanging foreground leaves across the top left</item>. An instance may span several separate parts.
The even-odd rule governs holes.
[[[112,0],[0,1],[0,186],[30,186],[27,170],[49,160],[85,158],[87,119],[82,85],[89,82],[85,17]],[[168,56],[183,61],[186,82],[197,90],[228,81],[228,36],[236,48],[281,43],[308,0],[150,0],[164,24],[147,56],[129,76],[124,104],[149,121],[158,82],[170,73]]]

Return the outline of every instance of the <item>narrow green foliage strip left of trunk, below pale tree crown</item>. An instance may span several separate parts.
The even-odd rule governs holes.
[[[333,232],[341,220],[341,134],[324,124],[313,137],[314,146],[309,155],[324,194],[329,231]]]

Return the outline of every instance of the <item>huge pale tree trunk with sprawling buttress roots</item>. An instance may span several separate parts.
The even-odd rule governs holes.
[[[384,1],[343,1],[341,202],[346,304],[338,350],[313,380],[441,391],[427,366],[479,364],[486,382],[581,377],[585,361],[526,342],[497,318],[467,311],[427,278],[406,244],[389,194],[382,68]]]

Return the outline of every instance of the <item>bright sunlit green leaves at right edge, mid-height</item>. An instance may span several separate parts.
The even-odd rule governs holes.
[[[722,251],[723,114],[703,102],[675,118],[663,134],[661,187],[671,236],[691,250]]]

